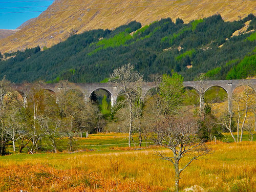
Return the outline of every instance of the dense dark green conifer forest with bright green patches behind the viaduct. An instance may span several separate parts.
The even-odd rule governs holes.
[[[246,32],[232,36],[248,21]],[[0,79],[104,82],[126,63],[132,63],[145,80],[172,70],[184,80],[202,73],[209,79],[241,79],[256,74],[255,29],[253,14],[234,22],[224,22],[221,15],[188,24],[165,18],[141,27],[134,21],[115,30],[73,35],[49,49],[0,54]]]

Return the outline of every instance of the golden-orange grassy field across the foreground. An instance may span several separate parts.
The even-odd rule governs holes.
[[[0,157],[0,191],[172,191],[174,169],[154,155],[167,150],[117,145],[126,142],[126,134],[95,134],[78,141],[93,151]],[[98,146],[104,143],[113,145]],[[214,152],[184,170],[182,191],[256,191],[256,142],[207,145]]]

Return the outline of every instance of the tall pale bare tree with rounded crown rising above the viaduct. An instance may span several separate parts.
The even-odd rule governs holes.
[[[134,121],[134,102],[141,97],[141,87],[143,84],[143,76],[137,71],[134,71],[134,66],[130,63],[124,65],[110,75],[109,81],[116,83],[116,86],[121,90],[121,94],[125,95],[122,101],[127,104],[129,109],[129,146],[131,146],[133,121]]]

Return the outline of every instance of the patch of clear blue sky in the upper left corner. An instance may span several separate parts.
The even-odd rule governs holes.
[[[53,1],[44,0],[0,0],[0,29],[16,29],[27,20],[37,17],[41,12],[26,11],[45,11]],[[46,7],[35,7],[46,6]],[[30,7],[30,8],[20,8]],[[24,12],[24,13],[7,13]]]

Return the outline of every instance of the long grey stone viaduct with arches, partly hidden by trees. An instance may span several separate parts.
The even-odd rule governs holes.
[[[212,81],[184,81],[184,87],[189,87],[195,89],[200,97],[200,108],[202,109],[202,105],[204,104],[204,94],[211,87],[221,87],[223,88],[228,95],[228,108],[232,109],[232,93],[234,89],[240,86],[249,86],[254,91],[256,91],[256,79],[242,79],[242,80],[212,80]],[[52,92],[58,92],[61,87],[58,87],[58,83],[50,83],[45,84],[44,89],[47,89]],[[156,87],[156,85],[152,82],[145,82],[142,87],[142,94],[145,95],[146,92],[152,88]],[[19,93],[23,94],[25,85],[24,84],[15,84],[15,89],[19,91]],[[120,89],[116,86],[116,84],[112,83],[74,83],[74,88],[80,90],[84,95],[84,100],[89,100],[90,95],[99,89],[102,89],[110,95],[111,105],[113,106],[116,103],[116,99],[118,94],[120,93]]]

